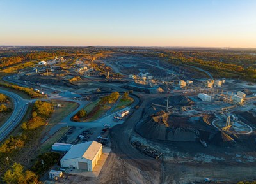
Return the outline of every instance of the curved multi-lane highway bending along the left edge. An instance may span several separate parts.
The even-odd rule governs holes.
[[[8,136],[17,125],[19,125],[20,121],[24,117],[28,106],[27,104],[30,103],[30,100],[22,99],[19,95],[8,92],[5,90],[0,89],[0,93],[5,94],[6,96],[10,97],[13,101],[14,108],[11,117],[0,127],[0,142]]]

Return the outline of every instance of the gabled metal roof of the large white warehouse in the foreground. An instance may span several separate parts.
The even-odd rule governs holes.
[[[72,146],[72,148],[64,155],[61,160],[75,159],[84,157],[88,160],[93,160],[102,144],[96,141],[90,141]]]

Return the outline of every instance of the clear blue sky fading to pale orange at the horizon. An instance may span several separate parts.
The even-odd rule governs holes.
[[[256,1],[0,0],[0,45],[256,48]]]

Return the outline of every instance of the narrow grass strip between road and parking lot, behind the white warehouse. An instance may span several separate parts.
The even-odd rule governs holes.
[[[40,152],[45,153],[49,151],[51,146],[56,143],[67,131],[70,129],[70,127],[63,127],[58,132],[56,132],[51,138],[47,139],[41,146],[40,146]]]

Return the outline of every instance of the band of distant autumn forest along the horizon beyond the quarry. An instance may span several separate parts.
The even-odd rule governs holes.
[[[217,48],[115,48],[115,47],[13,47],[0,49],[0,69],[20,62],[61,55],[99,55],[100,53],[142,54],[158,57],[178,66],[196,66],[214,77],[256,81],[256,50]]]

